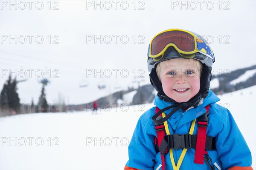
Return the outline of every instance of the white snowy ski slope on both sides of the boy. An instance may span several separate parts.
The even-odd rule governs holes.
[[[256,169],[256,86],[227,93],[221,104],[233,114]],[[137,120],[153,104],[69,113],[0,118],[0,169],[121,170]],[[132,141],[135,142],[135,141]]]

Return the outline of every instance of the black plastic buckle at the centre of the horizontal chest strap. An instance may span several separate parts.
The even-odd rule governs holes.
[[[173,134],[165,136],[167,138],[169,149],[182,149],[191,148],[191,135],[190,134]]]

